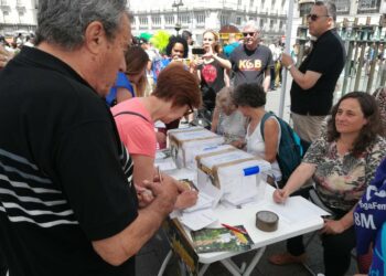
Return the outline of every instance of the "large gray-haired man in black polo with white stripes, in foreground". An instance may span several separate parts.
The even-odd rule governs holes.
[[[136,191],[103,99],[126,71],[126,4],[40,0],[36,47],[0,73],[0,244],[10,275],[135,275],[135,254],[173,210],[172,179]],[[144,192],[153,200],[138,211]]]

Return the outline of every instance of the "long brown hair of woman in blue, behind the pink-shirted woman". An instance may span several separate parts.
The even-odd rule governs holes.
[[[149,55],[141,46],[130,46],[125,54],[125,60],[126,74],[137,75],[143,73],[138,83],[133,85],[136,87],[136,96],[142,97],[148,81],[144,70],[149,62]]]

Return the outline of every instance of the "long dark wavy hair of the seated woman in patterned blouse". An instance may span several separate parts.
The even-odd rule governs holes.
[[[362,155],[366,148],[376,139],[377,135],[383,134],[383,127],[380,125],[379,110],[377,104],[371,95],[364,92],[351,92],[337,102],[332,107],[331,118],[328,121],[328,141],[332,142],[336,140],[341,134],[337,132],[335,126],[335,117],[341,103],[347,98],[355,98],[361,106],[361,110],[364,117],[367,119],[367,124],[363,126],[358,137],[353,145],[353,153],[355,156]]]

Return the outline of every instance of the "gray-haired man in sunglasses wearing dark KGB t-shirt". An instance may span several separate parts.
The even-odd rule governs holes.
[[[230,54],[234,86],[257,82],[267,92],[270,85],[270,68],[274,67],[272,53],[267,46],[259,44],[259,32],[254,21],[244,26],[243,36],[244,44]]]

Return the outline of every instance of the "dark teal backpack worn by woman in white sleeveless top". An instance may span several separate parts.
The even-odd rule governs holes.
[[[279,150],[276,155],[276,160],[278,161],[281,171],[281,183],[283,185],[291,176],[292,171],[294,171],[294,169],[301,163],[301,159],[303,158],[309,145],[300,139],[299,135],[293,131],[287,121],[282,120],[271,112],[266,113],[261,118],[260,132],[262,140],[265,140],[264,125],[271,116],[275,116],[275,118],[279,121],[281,129]]]

